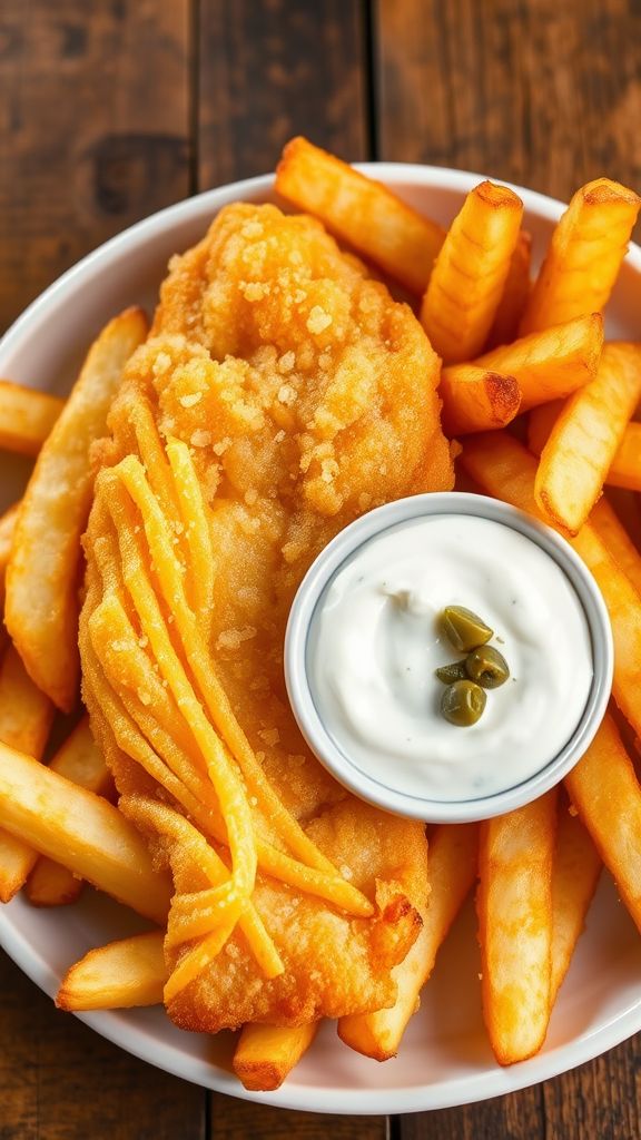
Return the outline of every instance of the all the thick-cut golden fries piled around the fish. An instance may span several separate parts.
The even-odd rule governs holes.
[[[481,994],[502,1065],[541,1049],[602,865],[641,930],[641,554],[603,496],[641,490],[641,344],[603,341],[602,310],[640,199],[606,178],[579,189],[530,283],[522,203],[485,181],[449,229],[305,139],[287,145],[276,188],[315,214],[415,299],[443,360],[447,433],[474,489],[512,503],[570,539],[601,588],[616,648],[611,712],[565,788],[480,825],[430,833],[431,894],[420,936],[395,970],[391,1009],[343,1017],[342,1041],[384,1060],[399,1049],[437,952],[478,882]],[[91,345],[63,404],[0,382],[0,446],[36,455],[23,500],[0,519],[0,898],[74,902],[87,881],[149,919],[147,934],[71,966],[67,1010],[162,1001],[169,878],[152,866],[79,705],[81,536],[92,494],[91,446],[122,368],[145,339],[138,309]],[[514,430],[512,430],[514,425]],[[527,446],[522,440],[527,440]],[[57,712],[75,726],[50,756]],[[630,731],[628,731],[630,730]],[[43,764],[43,758],[47,764]],[[316,1025],[245,1026],[234,1069],[245,1088],[278,1088]]]

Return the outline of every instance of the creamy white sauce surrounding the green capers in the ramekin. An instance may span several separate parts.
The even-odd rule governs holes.
[[[510,678],[480,719],[444,719],[435,669],[462,660],[438,628],[446,605],[494,630]],[[431,515],[366,542],[320,596],[307,642],[317,712],[334,744],[387,788],[456,801],[512,788],[567,743],[592,683],[590,630],[553,559],[472,515]]]

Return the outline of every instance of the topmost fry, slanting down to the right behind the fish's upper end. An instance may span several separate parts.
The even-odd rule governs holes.
[[[411,292],[423,293],[445,230],[387,186],[295,138],[283,150],[276,189]]]

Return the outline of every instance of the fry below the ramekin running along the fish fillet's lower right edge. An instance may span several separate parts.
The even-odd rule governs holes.
[[[438,950],[445,940],[477,874],[476,824],[444,824],[430,839],[430,896],[423,927],[405,961],[392,977],[398,996],[390,1009],[341,1017],[339,1036],[346,1045],[379,1061],[395,1057],[409,1018],[419,1007],[419,994],[430,977]]]

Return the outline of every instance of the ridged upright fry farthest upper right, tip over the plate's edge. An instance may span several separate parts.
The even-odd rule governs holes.
[[[641,198],[608,178],[587,182],[560,218],[521,334],[600,312],[612,291]]]

